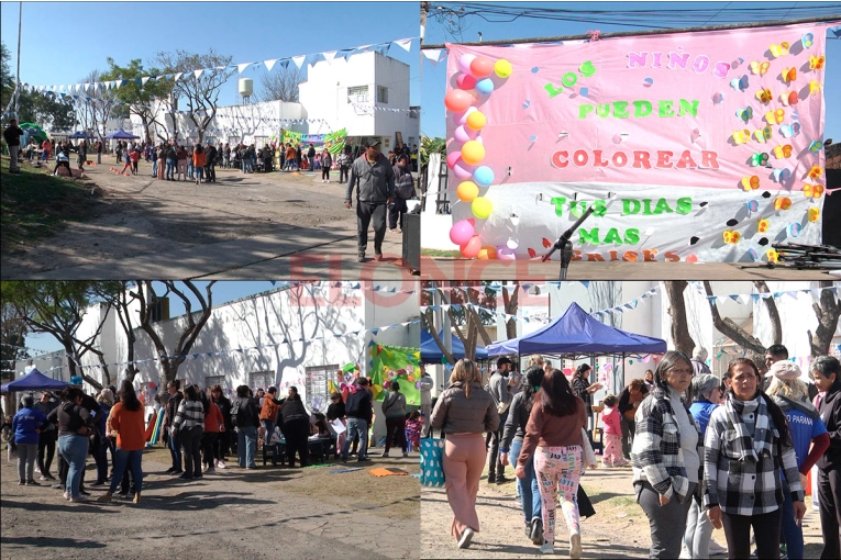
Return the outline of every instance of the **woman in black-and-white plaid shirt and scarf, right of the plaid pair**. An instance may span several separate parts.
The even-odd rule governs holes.
[[[759,558],[779,558],[783,484],[799,525],[806,514],[797,457],[785,413],[760,388],[760,371],[746,358],[730,362],[724,404],[709,418],[705,437],[704,504],[716,528],[724,527],[729,558],[749,558],[750,531]]]

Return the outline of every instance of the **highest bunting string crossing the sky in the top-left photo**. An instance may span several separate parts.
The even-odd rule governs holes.
[[[31,83],[21,82],[21,87],[24,90],[34,92],[34,93],[44,93],[44,94],[52,93],[54,96],[55,94],[60,96],[60,99],[65,99],[68,96],[71,97],[73,99],[78,99],[79,92],[85,92],[89,96],[90,93],[96,93],[97,91],[106,92],[111,89],[120,89],[121,87],[126,86],[131,82],[134,82],[137,86],[143,86],[150,80],[173,80],[173,81],[181,80],[184,81],[190,78],[199,79],[203,72],[213,71],[213,70],[235,69],[237,74],[242,74],[246,68],[259,67],[262,65],[266,68],[267,71],[272,71],[272,69],[275,66],[287,68],[290,64],[294,64],[296,67],[300,69],[305,65],[316,66],[318,63],[321,63],[321,61],[327,61],[328,64],[330,64],[336,58],[343,58],[347,60],[352,56],[363,54],[363,53],[376,52],[383,56],[386,56],[388,54],[388,51],[395,45],[401,47],[403,51],[408,53],[411,51],[412,42],[417,40],[418,37],[400,38],[396,41],[387,41],[384,43],[376,43],[370,45],[362,45],[357,47],[343,48],[341,51],[328,51],[322,53],[313,53],[309,55],[298,55],[298,56],[290,56],[285,58],[273,58],[273,59],[267,59],[263,61],[237,63],[237,64],[231,64],[228,66],[218,66],[215,68],[199,68],[191,71],[164,74],[162,76],[143,76],[141,78],[133,78],[133,79],[106,80],[106,81],[79,82],[79,83],[53,85],[53,86],[34,86]],[[82,97],[82,99],[89,100],[90,97]]]

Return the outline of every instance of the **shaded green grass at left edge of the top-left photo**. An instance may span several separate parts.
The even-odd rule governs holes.
[[[2,250],[49,237],[66,222],[81,222],[95,215],[100,204],[91,197],[91,183],[53,177],[48,169],[21,164],[20,175],[9,172],[9,157],[0,165],[0,238]]]

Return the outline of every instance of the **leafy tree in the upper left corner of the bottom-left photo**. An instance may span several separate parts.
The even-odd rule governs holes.
[[[90,281],[3,281],[3,303],[11,305],[21,321],[33,333],[48,333],[64,346],[70,376],[81,376],[97,390],[103,383],[78,368],[81,357],[87,352],[97,356],[104,385],[111,384],[111,374],[104,360],[104,354],[97,346],[107,317],[101,314],[96,328],[87,338],[78,336],[78,328],[91,304],[96,303],[95,287]]]

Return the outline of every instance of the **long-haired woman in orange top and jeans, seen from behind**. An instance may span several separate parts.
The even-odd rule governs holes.
[[[110,502],[117,485],[123,480],[126,464],[134,479],[134,503],[140,503],[143,490],[143,448],[146,447],[143,405],[134,392],[131,380],[124,379],[120,385],[120,402],[111,408],[108,418],[108,433],[117,438],[114,456],[114,475],[108,492],[99,496],[98,502]]]

